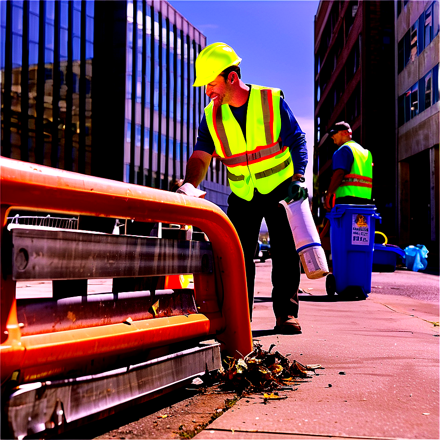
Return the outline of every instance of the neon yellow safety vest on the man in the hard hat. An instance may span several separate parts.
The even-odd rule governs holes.
[[[289,148],[279,137],[281,116],[278,88],[251,85],[247,105],[246,140],[229,106],[205,107],[206,122],[220,161],[226,166],[231,190],[251,200],[256,188],[267,194],[293,176]]]

